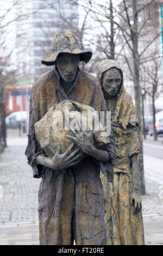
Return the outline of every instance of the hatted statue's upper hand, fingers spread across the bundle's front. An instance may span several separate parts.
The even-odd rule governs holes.
[[[80,120],[78,119],[77,124],[79,130],[70,127],[74,136],[66,135],[66,137],[72,139],[78,145],[78,147],[82,148],[85,154],[89,154],[89,151],[92,150],[93,147],[93,130],[86,132],[84,124],[81,122],[80,125]]]

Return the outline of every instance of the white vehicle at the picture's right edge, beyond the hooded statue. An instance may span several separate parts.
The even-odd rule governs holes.
[[[163,110],[155,114],[155,127],[157,134],[163,134]],[[153,123],[149,125],[149,135],[153,135]]]

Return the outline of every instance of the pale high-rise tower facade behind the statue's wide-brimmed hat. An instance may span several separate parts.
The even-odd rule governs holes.
[[[68,24],[78,27],[78,7],[67,1],[56,3],[55,0],[32,0],[33,9],[33,76],[38,77],[47,71],[41,60],[51,54],[52,40],[55,32],[61,28],[70,28]],[[64,19],[67,19],[66,22]]]

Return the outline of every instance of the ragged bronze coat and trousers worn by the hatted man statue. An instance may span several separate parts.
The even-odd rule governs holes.
[[[30,97],[30,120],[26,155],[34,178],[42,178],[39,190],[39,227],[41,245],[104,245],[104,197],[99,170],[112,179],[115,148],[112,136],[103,150],[110,160],[101,163],[87,156],[77,166],[52,170],[36,164],[36,156],[45,154],[35,138],[34,124],[62,100],[73,100],[105,111],[101,87],[95,77],[78,69],[76,80],[66,94],[57,69],[39,77]]]

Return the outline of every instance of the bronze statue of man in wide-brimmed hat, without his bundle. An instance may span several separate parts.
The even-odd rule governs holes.
[[[61,29],[54,35],[52,54],[42,63],[55,65],[34,82],[30,98],[30,120],[26,155],[35,178],[42,178],[39,190],[39,227],[41,245],[105,245],[104,198],[99,168],[108,172],[115,157],[111,137],[105,148],[93,145],[92,132],[74,132],[65,154],[60,146],[49,159],[36,141],[34,124],[48,109],[67,99],[106,111],[101,87],[95,77],[79,69],[92,53],[83,51],[71,31]],[[78,148],[73,150],[73,144]],[[79,151],[80,148],[80,151]],[[86,157],[79,160],[81,149]],[[70,154],[70,151],[72,152]],[[110,172],[111,173],[111,172]]]

